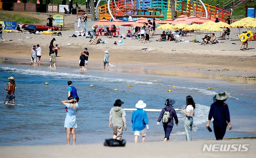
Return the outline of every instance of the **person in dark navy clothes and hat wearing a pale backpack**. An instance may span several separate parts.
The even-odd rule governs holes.
[[[175,100],[167,99],[165,101],[165,108],[162,109],[160,116],[158,117],[158,120],[156,122],[157,125],[160,125],[161,119],[163,119],[163,130],[165,131],[165,138],[163,139],[164,142],[169,140],[170,134],[172,132],[172,128],[174,126],[174,120],[175,124],[178,125],[179,120],[177,117],[177,114],[172,108],[172,105],[174,105]]]

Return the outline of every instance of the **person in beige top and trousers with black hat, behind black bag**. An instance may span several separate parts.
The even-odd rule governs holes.
[[[109,112],[109,128],[112,126],[113,129],[113,139],[120,140],[123,135],[123,127],[126,131],[126,113],[121,108],[121,106],[124,104],[123,101],[120,99],[117,99],[114,103],[114,107],[111,108]]]

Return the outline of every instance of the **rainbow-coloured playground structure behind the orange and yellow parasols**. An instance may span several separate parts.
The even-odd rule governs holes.
[[[147,17],[158,19],[171,19],[171,0],[107,0],[107,4],[96,5],[96,16],[99,19],[114,18],[127,21],[129,15],[135,18]],[[209,19],[218,17],[225,21],[231,12],[224,9],[204,4],[202,0],[175,0],[175,13],[179,15],[194,15],[196,17],[207,17]]]

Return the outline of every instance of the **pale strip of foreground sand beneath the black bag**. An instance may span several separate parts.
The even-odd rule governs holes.
[[[246,152],[214,152],[207,150],[203,152],[204,144],[249,145],[247,146],[248,151]],[[193,142],[170,141],[167,143],[127,143],[125,147],[104,147],[103,144],[86,144],[76,146],[5,146],[0,147],[0,152],[2,158],[165,158],[167,155],[180,158],[187,158],[191,155],[196,158],[252,158],[255,154],[255,145],[255,139],[230,139],[223,141],[199,140]]]

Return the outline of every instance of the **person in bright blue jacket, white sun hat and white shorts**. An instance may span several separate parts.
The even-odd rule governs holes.
[[[134,131],[134,142],[138,142],[138,137],[142,136],[142,142],[145,142],[146,139],[146,129],[149,130],[149,120],[147,118],[147,112],[143,109],[146,108],[146,103],[142,100],[139,100],[135,107],[135,110],[132,113],[132,130]]]

